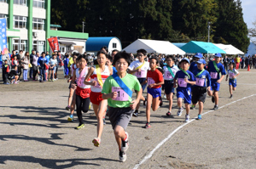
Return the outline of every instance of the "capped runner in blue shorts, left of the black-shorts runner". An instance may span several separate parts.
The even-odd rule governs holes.
[[[189,71],[189,59],[183,58],[180,61],[180,70],[177,71],[173,79],[173,87],[176,87],[177,82],[177,116],[182,115],[183,107],[182,101],[186,107],[185,121],[189,121],[189,104],[191,104],[191,86],[195,85],[195,76]]]

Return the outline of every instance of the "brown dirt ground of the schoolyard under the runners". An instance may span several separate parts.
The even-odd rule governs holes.
[[[99,148],[91,143],[96,137],[93,111],[84,114],[85,127],[79,131],[74,129],[76,115],[74,122],[67,121],[68,83],[63,76],[56,82],[19,85],[3,85],[1,76],[0,168],[256,168],[256,70],[240,73],[233,99],[223,81],[220,109],[213,111],[207,98],[203,119],[193,121],[198,110],[190,110],[192,121],[183,127],[184,111],[177,117],[174,107],[175,118],[166,117],[164,99],[163,107],[151,112],[151,128],[144,129],[142,105],[127,127],[130,148],[124,163],[119,162],[108,117]]]

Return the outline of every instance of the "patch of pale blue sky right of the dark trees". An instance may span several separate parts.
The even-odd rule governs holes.
[[[248,28],[253,28],[253,21],[256,21],[256,0],[241,0],[243,20]]]

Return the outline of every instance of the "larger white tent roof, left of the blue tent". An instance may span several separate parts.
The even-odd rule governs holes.
[[[155,41],[147,39],[137,39],[132,42],[131,45],[124,48],[127,53],[136,54],[138,49],[145,49],[148,54],[186,54],[182,49],[177,48],[171,42],[168,41]]]

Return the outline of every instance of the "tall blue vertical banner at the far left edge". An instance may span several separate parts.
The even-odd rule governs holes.
[[[6,18],[0,19],[0,51],[2,51],[2,54],[9,54],[6,37]]]

